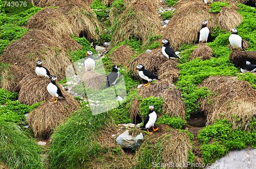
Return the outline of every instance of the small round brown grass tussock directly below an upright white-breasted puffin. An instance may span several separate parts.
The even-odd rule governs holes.
[[[190,61],[196,58],[200,58],[201,60],[207,60],[211,59],[212,57],[212,49],[206,44],[206,43],[200,43],[199,47],[196,48],[192,53],[191,53],[191,58]]]

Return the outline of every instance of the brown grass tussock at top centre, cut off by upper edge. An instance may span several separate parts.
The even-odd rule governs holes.
[[[158,0],[132,1],[113,23],[112,42],[116,45],[130,37],[142,40],[146,44],[148,37],[159,34],[160,17]]]

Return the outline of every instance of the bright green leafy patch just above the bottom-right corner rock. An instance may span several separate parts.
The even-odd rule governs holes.
[[[256,130],[245,132],[240,129],[233,130],[231,126],[227,120],[219,120],[199,131],[198,139],[202,145],[205,163],[214,162],[229,150],[241,150],[247,145],[256,147]]]

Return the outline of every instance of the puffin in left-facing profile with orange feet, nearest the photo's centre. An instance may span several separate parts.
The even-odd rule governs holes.
[[[158,78],[158,75],[155,75],[155,74],[153,74],[151,71],[146,70],[146,69],[144,68],[144,66],[141,65],[141,64],[138,64],[138,65],[135,67],[134,70],[138,70],[139,76],[140,76],[141,78],[143,78],[144,80],[147,80],[147,81],[148,81],[148,83],[146,83],[146,85],[144,85],[145,87],[149,87],[149,86],[150,86],[150,82],[151,82],[152,80],[160,80],[160,79]]]

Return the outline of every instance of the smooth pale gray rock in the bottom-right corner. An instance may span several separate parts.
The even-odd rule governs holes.
[[[218,159],[206,169],[256,169],[256,149],[231,150],[227,155]]]

